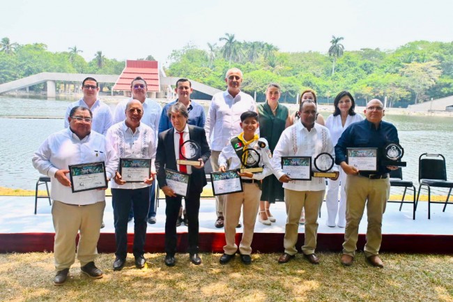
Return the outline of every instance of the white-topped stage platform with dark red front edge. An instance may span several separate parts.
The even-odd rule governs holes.
[[[114,252],[115,236],[112,198],[107,197],[104,213],[105,228],[101,229],[99,252]],[[38,214],[34,215],[34,197],[0,197],[0,252],[44,252],[52,251],[54,228],[51,208],[47,199],[38,200]],[[442,204],[431,205],[431,220],[428,220],[427,202],[420,202],[416,219],[412,219],[412,204],[388,203],[383,219],[383,243],[381,252],[442,253],[453,254],[453,206],[442,212]],[[266,226],[256,220],[254,252],[282,252],[286,212],[283,202],[271,206],[277,222]],[[340,252],[344,239],[344,228],[325,225],[327,212],[325,203],[318,218],[318,251]],[[199,224],[199,246],[201,252],[223,252],[225,244],[223,229],[216,229],[215,200],[202,199]],[[157,223],[148,225],[146,252],[164,252],[165,201],[160,200]],[[362,250],[367,228],[366,210],[360,224],[358,249]],[[134,222],[129,222],[133,232]],[[242,228],[237,229],[239,241]],[[133,234],[129,242],[132,243]],[[304,238],[304,226],[299,227],[298,249]],[[132,247],[130,246],[130,251]],[[187,227],[178,227],[178,252],[187,250]]]

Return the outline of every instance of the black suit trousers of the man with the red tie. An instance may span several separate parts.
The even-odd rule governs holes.
[[[198,213],[200,210],[200,195],[201,192],[193,192],[189,189],[189,193],[185,199],[185,211],[189,222],[189,249],[191,254],[198,252],[198,232],[199,222]],[[165,196],[167,206],[165,208],[165,252],[167,255],[174,256],[176,253],[176,221],[178,220],[179,208],[183,197],[168,197]]]

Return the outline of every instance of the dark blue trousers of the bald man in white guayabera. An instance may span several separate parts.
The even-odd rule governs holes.
[[[149,210],[149,187],[141,189],[112,189],[116,257],[125,259],[128,253],[128,218],[130,206],[134,209],[134,246],[135,257],[144,254],[146,227]]]

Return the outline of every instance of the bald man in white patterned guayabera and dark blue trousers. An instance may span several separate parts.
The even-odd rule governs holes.
[[[125,121],[114,124],[107,131],[107,139],[114,147],[120,163],[112,179],[112,206],[116,239],[114,271],[120,271],[128,254],[128,217],[134,209],[134,244],[132,251],[135,266],[143,268],[146,263],[144,246],[146,219],[149,209],[149,187],[154,181],[155,132],[141,123],[143,105],[139,100],[130,100],[125,108]]]

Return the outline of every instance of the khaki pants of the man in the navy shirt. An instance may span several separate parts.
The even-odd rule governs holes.
[[[378,255],[382,241],[382,216],[390,194],[390,180],[368,179],[364,176],[348,175],[346,180],[346,229],[343,253],[354,256],[357,250],[359,224],[365,205],[367,206],[367,243],[365,256]]]

